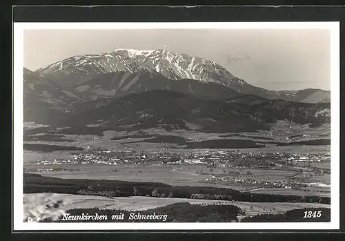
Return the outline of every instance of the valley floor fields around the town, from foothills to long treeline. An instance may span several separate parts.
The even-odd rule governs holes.
[[[34,129],[33,129],[34,130]],[[59,130],[57,130],[59,131]],[[60,130],[61,131],[61,130]],[[242,139],[259,142],[297,142],[315,140],[324,137],[330,137],[330,126],[328,124],[319,126],[317,128],[310,128],[308,125],[291,124],[286,121],[280,121],[271,126],[270,131],[259,131],[258,133],[200,133],[197,131],[186,130],[174,130],[164,131],[161,128],[151,128],[144,131],[145,135],[165,135],[181,137],[193,142],[201,142],[204,140],[214,139]],[[42,135],[43,134],[43,135]],[[63,134],[63,135],[62,135]],[[275,159],[271,162],[275,162],[276,166],[273,168],[257,168],[259,164],[259,157],[264,157],[263,153],[268,155],[277,155],[278,153],[287,153],[286,157],[303,156],[303,155],[320,155],[330,156],[330,145],[319,146],[275,146],[274,144],[267,144],[264,148],[241,148],[235,149],[208,149],[208,148],[194,148],[188,149],[186,147],[181,148],[178,144],[172,143],[150,143],[146,142],[147,138],[137,138],[143,135],[137,133],[137,131],[104,131],[103,136],[96,135],[74,135],[68,133],[37,133],[32,137],[45,140],[28,141],[26,143],[31,144],[47,144],[47,145],[61,145],[70,147],[81,147],[84,151],[52,151],[49,153],[43,151],[23,151],[23,167],[24,171],[28,173],[39,173],[48,177],[60,177],[64,179],[94,179],[94,180],[124,180],[135,182],[161,182],[170,184],[172,186],[217,186],[227,187],[229,189],[236,189],[239,191],[250,191],[253,193],[274,193],[284,195],[318,195],[330,197],[331,195],[331,160],[319,160],[312,162],[298,162],[295,160],[293,167],[286,164],[287,161]],[[40,137],[41,136],[41,137]],[[112,140],[113,137],[117,137]],[[227,137],[226,137],[227,136]],[[44,138],[43,138],[44,137]],[[59,137],[66,138],[66,142],[55,142],[50,138],[55,139]],[[149,138],[150,139],[150,138]],[[166,157],[171,155],[184,156],[186,153],[190,155],[210,155],[213,151],[239,151],[243,155],[251,155],[244,158],[244,160],[233,159],[231,161],[224,160],[223,163],[237,162],[234,166],[212,166],[208,164],[184,164],[184,165],[167,165],[161,161],[147,162],[146,166],[135,166],[132,163],[117,165],[108,165],[107,163],[95,164],[54,164],[54,160],[74,160],[76,155],[83,158],[86,155],[91,155],[90,158],[103,158],[104,160],[110,159],[105,154],[103,157],[98,154],[99,149],[112,151],[134,151],[140,158],[140,153],[163,153]],[[95,150],[95,151],[94,151]],[[95,155],[94,155],[95,154]],[[112,153],[109,154],[109,156]],[[102,154],[103,155],[103,154]],[[114,154],[115,155],[115,154]],[[112,155],[112,157],[114,156]],[[189,154],[188,154],[189,155]],[[197,157],[197,158],[199,158]],[[121,158],[121,157],[120,157]],[[189,157],[188,157],[189,158]],[[257,158],[254,167],[241,166],[242,162]],[[49,163],[42,163],[47,161]],[[264,157],[261,160],[269,160]],[[92,159],[94,162],[94,159]],[[133,161],[135,162],[135,161]],[[284,163],[285,162],[285,163]],[[66,162],[65,162],[66,163]],[[109,163],[110,164],[110,163]],[[55,168],[62,168],[60,171],[56,171]],[[323,170],[324,173],[315,173],[316,170]],[[48,171],[47,171],[48,170]],[[237,172],[237,175],[234,175]],[[246,173],[252,173],[247,176]],[[225,176],[229,182],[223,182],[221,177]],[[240,182],[233,183],[235,179],[242,179]],[[250,179],[250,182],[247,180]],[[265,186],[257,184],[257,182],[286,182],[293,180],[294,182],[302,182],[312,184],[308,188],[292,189],[287,185],[286,188],[277,188],[276,186]]]

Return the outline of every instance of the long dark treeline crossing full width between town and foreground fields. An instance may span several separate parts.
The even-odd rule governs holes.
[[[117,180],[63,180],[24,173],[24,193],[70,193],[84,195],[150,196],[235,200],[242,202],[317,202],[331,204],[330,197],[246,193],[234,189],[209,186],[170,186],[158,182],[125,182]]]

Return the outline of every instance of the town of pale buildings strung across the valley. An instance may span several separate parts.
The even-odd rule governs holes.
[[[51,160],[37,162],[38,165],[47,164],[137,164],[146,165],[159,162],[167,165],[192,164],[219,168],[279,168],[294,166],[298,163],[326,162],[330,154],[298,153],[241,153],[240,151],[188,151],[175,153],[172,151],[152,151],[138,153],[135,151],[97,150],[86,151],[71,155],[68,160]]]

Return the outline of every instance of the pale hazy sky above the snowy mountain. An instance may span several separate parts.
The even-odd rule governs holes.
[[[330,89],[329,30],[25,30],[30,70],[117,48],[165,49],[215,61],[270,90]]]

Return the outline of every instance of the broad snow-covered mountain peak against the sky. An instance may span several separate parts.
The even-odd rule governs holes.
[[[41,75],[55,75],[65,79],[68,75],[92,79],[99,74],[113,72],[160,73],[169,79],[196,79],[229,87],[242,85],[242,81],[213,61],[168,50],[136,50],[118,48],[101,55],[79,55],[64,59],[37,70]]]

